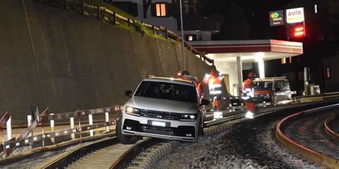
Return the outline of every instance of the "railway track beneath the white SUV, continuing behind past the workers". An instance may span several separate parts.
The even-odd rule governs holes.
[[[293,105],[269,106],[258,109],[258,115],[281,109],[310,106],[317,103],[300,103]],[[245,110],[238,110],[224,113],[223,119],[206,122],[204,132],[210,130],[210,127],[221,125],[225,122],[241,119],[244,117]],[[207,119],[209,120],[209,119]],[[157,149],[160,145],[166,144],[165,149]],[[117,142],[116,137],[110,138],[78,149],[67,155],[47,164],[43,168],[144,168],[142,166],[153,166],[154,161],[170,153],[173,147],[180,144],[179,141],[155,141],[154,139],[144,139],[135,145],[122,145]],[[162,146],[163,147],[163,146]],[[156,150],[157,149],[157,150]],[[152,154],[152,155],[151,155]],[[91,164],[93,163],[93,164]]]

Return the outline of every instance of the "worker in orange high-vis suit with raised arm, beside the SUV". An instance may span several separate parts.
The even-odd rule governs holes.
[[[221,83],[224,76],[220,76],[217,71],[211,70],[209,75],[206,74],[202,82],[208,84],[209,96],[213,97],[213,114],[214,119],[223,118],[223,114],[220,107],[221,100]]]

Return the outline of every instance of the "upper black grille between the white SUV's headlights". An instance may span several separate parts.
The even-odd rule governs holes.
[[[141,117],[155,118],[155,119],[165,119],[165,120],[177,120],[180,121],[182,114],[176,112],[165,112],[165,111],[154,111],[139,109]]]

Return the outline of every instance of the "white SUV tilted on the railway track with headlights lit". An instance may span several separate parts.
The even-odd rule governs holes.
[[[203,133],[206,99],[199,100],[193,81],[147,77],[137,91],[125,91],[131,99],[124,104],[116,135],[123,144],[134,144],[142,136],[196,141]]]

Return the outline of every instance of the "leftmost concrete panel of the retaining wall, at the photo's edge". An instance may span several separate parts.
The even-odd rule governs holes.
[[[22,121],[30,105],[43,109],[45,101],[22,1],[2,1],[0,11],[0,115],[5,109],[12,121]]]

